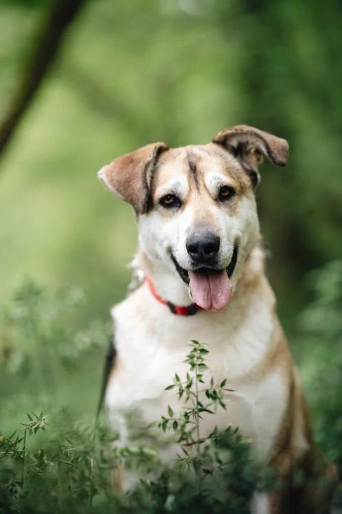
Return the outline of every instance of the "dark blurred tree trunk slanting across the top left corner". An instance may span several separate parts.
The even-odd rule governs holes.
[[[49,71],[69,24],[87,0],[54,0],[36,35],[36,42],[23,69],[21,80],[0,122],[0,157],[16,127]]]

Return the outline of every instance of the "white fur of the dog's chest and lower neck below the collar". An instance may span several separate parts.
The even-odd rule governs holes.
[[[258,291],[255,292],[258,297]],[[239,426],[251,438],[261,460],[266,460],[286,404],[286,385],[279,371],[269,370],[253,377],[253,366],[269,351],[273,320],[269,301],[236,296],[227,310],[197,313],[194,317],[174,316],[152,297],[146,284],[113,311],[115,344],[119,361],[115,379],[106,394],[109,412],[135,410],[144,426],[159,420],[170,404],[177,412],[179,400],[165,391],[174,372],[185,377],[183,362],[192,339],[207,343],[207,381],[227,378],[227,411],[203,419],[203,435],[214,425],[224,429]],[[132,323],[134,320],[134,323]],[[113,419],[113,422],[116,422]],[[127,440],[121,425],[122,437]]]

